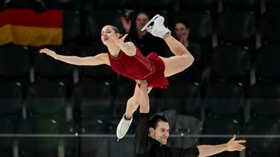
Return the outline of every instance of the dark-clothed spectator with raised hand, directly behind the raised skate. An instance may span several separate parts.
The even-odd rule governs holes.
[[[126,40],[133,42],[144,56],[147,56],[151,52],[162,56],[164,52],[164,41],[159,37],[154,37],[152,34],[148,33],[146,29],[141,31],[150,21],[149,14],[141,11],[136,13],[134,17],[135,21],[134,19],[127,20],[125,17],[121,17],[125,33],[129,34]]]

